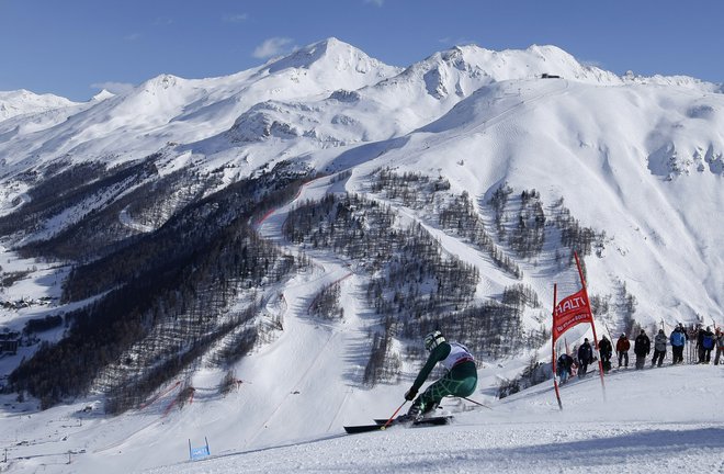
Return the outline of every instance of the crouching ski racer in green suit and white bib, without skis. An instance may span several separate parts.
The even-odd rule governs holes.
[[[437,330],[425,337],[425,349],[430,356],[415,379],[415,383],[405,394],[406,400],[415,402],[407,415],[398,417],[400,421],[422,418],[432,411],[443,397],[448,395],[466,397],[475,392],[477,386],[475,359],[465,346],[445,341],[442,332]],[[438,362],[441,362],[448,372],[415,398]]]

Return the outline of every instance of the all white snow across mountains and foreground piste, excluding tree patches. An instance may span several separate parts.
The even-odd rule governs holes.
[[[320,176],[305,174],[293,198],[264,208],[263,218],[253,222],[259,235],[289,255],[305,255],[309,267],[254,289],[262,295],[259,317],[273,316],[276,326],[228,368],[240,381],[236,391],[220,395],[226,371],[208,353],[117,418],[102,414],[100,395],[44,413],[36,413],[33,398],[16,402],[16,395],[7,395],[0,448],[9,448],[18,472],[102,469],[110,474],[168,466],[185,459],[190,439],[199,444],[204,437],[212,452],[224,456],[154,472],[223,473],[250,465],[264,472],[444,471],[448,465],[440,459],[453,463],[455,472],[479,472],[479,464],[510,472],[578,472],[584,466],[602,472],[634,458],[664,472],[681,460],[721,469],[721,462],[709,459],[721,449],[715,441],[721,426],[700,410],[721,393],[719,368],[618,373],[608,384],[607,402],[596,381],[572,384],[564,390],[563,414],[550,385],[495,402],[500,380],[517,376],[531,357],[550,357],[545,345],[516,346],[502,360],[476,354],[483,379],[475,398],[494,410],[461,413],[452,427],[332,438],[342,425],[367,422],[399,406],[419,369],[406,357],[417,341],[395,337],[389,353],[401,360],[399,377],[365,386],[370,339],[381,325],[365,298],[367,269],[343,252],[294,244],[283,232],[289,213],[305,202],[362,194],[389,207],[396,227],[419,224],[439,244],[440,253],[474,267],[479,272],[474,302],[498,301],[512,284],[533,289],[542,306],[523,309],[521,327],[528,335],[548,325],[553,283],[559,284],[559,295],[578,287],[577,274],[561,257],[568,249],[559,244],[563,230],[555,219],[565,206],[580,227],[604,233],[600,247],[585,259],[589,292],[602,302],[599,335],[626,327],[622,300],[633,302],[634,318],[646,328],[663,324],[669,330],[678,321],[721,325],[720,91],[719,84],[692,78],[618,77],[584,66],[554,46],[505,52],[461,46],[398,68],[329,38],[228,77],[162,75],[128,93],[104,94],[84,104],[60,101],[37,113],[25,113],[30,105],[18,106],[25,112],[0,117],[0,216],[32,203],[33,185],[72,163],[127,165],[150,156],[152,170],[114,181],[112,192],[81,194],[79,202],[48,213],[30,236],[8,236],[0,247],[0,267],[13,281],[0,289],[3,301],[57,298],[69,271],[24,260],[11,250],[13,245],[59,235],[109,208],[125,232],[150,235],[183,208],[183,199],[191,199],[178,194],[196,195],[193,188],[200,183],[174,183],[172,203],[152,223],[142,223],[129,205],[118,202],[144,184],[156,192],[156,184],[172,172],[188,170],[207,180],[211,190],[199,196],[282,161]],[[414,181],[421,198],[406,203],[399,195],[374,191],[381,169],[429,177],[441,191]],[[99,181],[94,178],[92,184]],[[496,215],[490,199],[505,187],[510,199]],[[547,240],[539,253],[521,257],[508,235],[518,223],[523,191],[531,190],[538,193]],[[489,252],[441,224],[441,208],[463,193],[496,249],[516,260],[519,275],[502,271]],[[504,225],[497,227],[496,219]],[[339,283],[344,317],[310,316],[314,296],[332,283]],[[241,300],[239,306],[246,303]],[[32,318],[83,303],[59,305],[56,300],[50,306],[3,308],[0,325],[21,330]],[[584,336],[582,330],[572,331],[568,342]],[[41,337],[57,341],[63,329]],[[0,376],[37,347],[0,359]],[[125,364],[122,359],[114,368]],[[711,383],[699,385],[702,377]],[[183,384],[195,392],[193,403],[179,409]],[[660,404],[652,403],[652,393],[660,396]],[[670,448],[660,459],[652,448],[658,444]],[[602,453],[600,445],[607,448]],[[686,454],[679,458],[677,450]],[[69,451],[72,464],[66,466],[61,463]],[[504,466],[501,460],[511,464]]]

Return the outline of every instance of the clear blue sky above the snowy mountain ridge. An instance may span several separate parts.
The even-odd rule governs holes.
[[[553,44],[619,75],[724,82],[721,0],[0,0],[0,90],[76,101],[225,76],[335,36],[394,66]]]

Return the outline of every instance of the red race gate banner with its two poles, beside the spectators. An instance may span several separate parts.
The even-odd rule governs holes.
[[[558,408],[563,409],[561,403],[561,393],[558,392],[558,379],[556,372],[557,358],[555,353],[555,341],[563,336],[565,331],[581,323],[589,323],[593,330],[593,343],[596,354],[598,357],[598,373],[601,376],[601,390],[603,391],[603,399],[606,399],[606,384],[603,382],[603,365],[601,364],[601,357],[598,349],[598,337],[596,336],[596,325],[593,324],[593,313],[591,312],[590,302],[588,300],[588,290],[586,289],[586,280],[584,280],[584,271],[580,268],[580,260],[578,253],[574,252],[576,257],[576,267],[578,267],[578,276],[580,278],[581,289],[561,300],[556,304],[558,297],[557,285],[553,285],[553,328],[551,330],[551,353],[553,366],[553,387],[555,388],[555,396],[558,400]]]

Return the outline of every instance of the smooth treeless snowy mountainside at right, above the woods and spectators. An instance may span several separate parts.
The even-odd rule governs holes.
[[[722,125],[721,94],[506,81],[480,88],[369,169],[439,172],[478,196],[502,181],[519,192],[536,189],[547,203],[565,196],[584,225],[608,236],[606,257],[592,262],[603,266],[590,275],[595,286],[625,274],[642,317],[711,321],[722,318],[724,279],[712,268],[724,241],[704,223],[723,215]],[[669,282],[670,292],[661,294],[652,278]],[[671,298],[679,292],[697,296]]]

